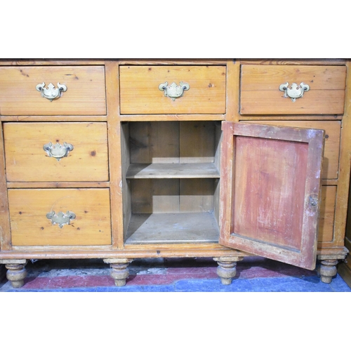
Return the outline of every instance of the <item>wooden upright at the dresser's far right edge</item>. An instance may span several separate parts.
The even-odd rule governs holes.
[[[347,60],[347,77],[345,92],[345,110],[341,128],[338,190],[336,194],[336,211],[334,220],[333,246],[344,246],[344,234],[347,217],[347,201],[350,187],[351,162],[351,61]]]

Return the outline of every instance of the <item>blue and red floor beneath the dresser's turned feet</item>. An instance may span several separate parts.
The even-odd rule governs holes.
[[[134,260],[126,286],[117,287],[102,260],[37,260],[27,263],[22,288],[13,289],[4,279],[0,292],[351,292],[339,275],[325,284],[316,271],[267,258],[244,258],[230,285],[220,283],[216,269],[217,263],[211,258]]]

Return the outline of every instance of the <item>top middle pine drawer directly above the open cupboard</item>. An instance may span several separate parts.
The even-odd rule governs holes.
[[[225,66],[121,66],[121,114],[224,114]],[[188,84],[185,90],[180,84]],[[160,90],[160,84],[170,88]],[[183,95],[176,98],[179,90]]]

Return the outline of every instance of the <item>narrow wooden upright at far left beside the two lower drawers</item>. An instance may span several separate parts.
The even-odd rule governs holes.
[[[5,150],[2,122],[0,121],[0,250],[11,250],[10,217],[5,174]]]

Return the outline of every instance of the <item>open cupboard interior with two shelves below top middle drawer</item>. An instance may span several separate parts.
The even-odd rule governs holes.
[[[126,244],[218,242],[220,121],[121,124]]]

